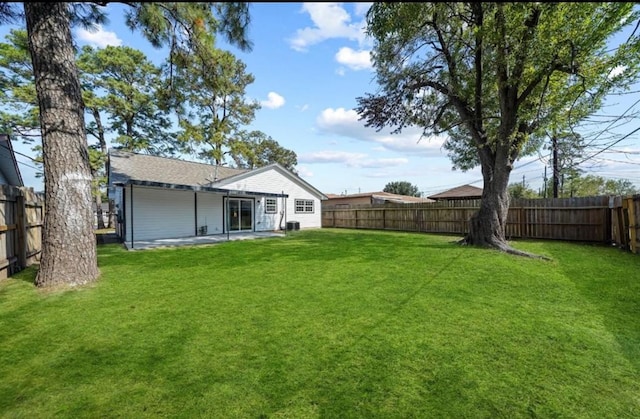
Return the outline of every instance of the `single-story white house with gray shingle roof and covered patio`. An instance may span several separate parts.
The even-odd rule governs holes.
[[[120,150],[109,152],[108,186],[116,234],[130,248],[135,240],[276,231],[289,225],[320,228],[321,201],[327,199],[279,164],[235,169]]]

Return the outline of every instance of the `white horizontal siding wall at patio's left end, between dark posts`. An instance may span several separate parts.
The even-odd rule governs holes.
[[[168,239],[195,235],[195,198],[193,191],[127,187],[127,240]],[[133,207],[133,220],[131,208]]]

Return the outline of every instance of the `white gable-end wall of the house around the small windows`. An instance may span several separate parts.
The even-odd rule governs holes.
[[[320,199],[304,188],[301,184],[292,181],[284,174],[280,173],[276,169],[267,170],[262,173],[257,173],[253,176],[238,180],[236,182],[225,183],[225,188],[237,189],[240,191],[252,191],[252,192],[270,192],[270,193],[282,193],[289,195],[286,199],[285,220],[282,222],[282,227],[286,228],[285,221],[298,221],[300,228],[320,228],[322,227],[322,211]],[[295,213],[295,200],[306,199],[313,200],[313,214],[296,214]],[[256,208],[256,215],[258,212],[262,216],[272,216],[272,214],[264,214],[264,200],[263,205]],[[282,209],[282,198],[278,198],[278,214]],[[265,225],[277,226],[279,220],[278,217],[270,217],[272,220]],[[260,224],[262,225],[262,223]],[[257,227],[257,226],[256,226]],[[278,227],[276,227],[278,228]],[[269,228],[260,228],[260,230],[268,230]],[[258,230],[258,228],[256,228]]]

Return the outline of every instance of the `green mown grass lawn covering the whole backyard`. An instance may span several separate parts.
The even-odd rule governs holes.
[[[0,282],[0,416],[638,418],[640,257],[322,229]]]

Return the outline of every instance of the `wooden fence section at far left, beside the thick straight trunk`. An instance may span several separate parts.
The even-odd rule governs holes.
[[[40,260],[44,199],[31,188],[0,186],[0,279],[3,279]]]

